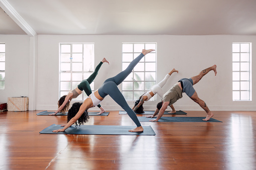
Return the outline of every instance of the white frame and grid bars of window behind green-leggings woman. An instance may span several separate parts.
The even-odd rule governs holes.
[[[82,52],[73,52],[73,45],[77,45],[77,44],[81,44],[82,45]],[[91,64],[89,65],[89,71],[84,71],[84,45],[93,45],[93,48],[91,49],[93,52],[92,52],[92,58],[91,58]],[[62,52],[61,50],[61,46],[62,45],[70,45],[70,53],[68,52]],[[59,43],[59,98],[61,96],[63,96],[63,94],[61,93],[65,93],[65,95],[68,94],[69,91],[73,90],[74,87],[73,87],[73,83],[76,82],[76,83],[80,83],[82,80],[88,78],[93,72],[94,72],[94,65],[95,65],[95,43]],[[62,61],[61,60],[61,54],[70,54],[70,61]],[[82,61],[72,61],[73,59],[73,54],[82,54]],[[64,71],[64,70],[61,70],[61,64],[62,63],[70,63],[70,71]],[[82,71],[73,71],[73,63],[81,63],[81,67],[82,67]],[[88,64],[88,62],[86,62]],[[92,70],[91,70],[92,69]],[[70,73],[70,80],[61,80],[61,73]],[[81,74],[81,80],[73,80],[73,76],[72,76],[72,73],[80,73]],[[89,74],[89,76],[85,76],[84,74]],[[61,90],[61,82],[70,82],[70,89],[69,90]],[[91,89],[92,91],[94,92],[94,82],[92,84],[90,84],[91,86]],[[76,85],[77,87],[77,85]],[[76,88],[75,87],[75,88]],[[79,99],[81,96],[81,99]],[[82,92],[82,94],[80,94],[77,98],[75,99],[72,99],[72,101],[83,101],[85,100],[85,98],[87,97],[87,94]]]

